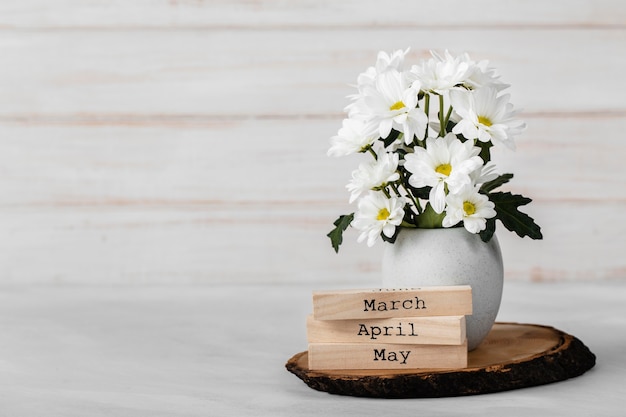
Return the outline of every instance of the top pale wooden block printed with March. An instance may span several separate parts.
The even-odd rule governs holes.
[[[469,285],[313,292],[316,320],[472,314]]]

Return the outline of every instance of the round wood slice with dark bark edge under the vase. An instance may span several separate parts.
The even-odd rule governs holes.
[[[463,369],[311,371],[308,353],[287,369],[309,387],[331,394],[376,398],[434,398],[486,394],[563,381],[593,368],[595,355],[553,327],[496,323],[469,353]]]

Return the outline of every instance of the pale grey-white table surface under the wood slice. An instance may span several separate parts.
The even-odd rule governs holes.
[[[0,288],[0,416],[623,416],[626,283],[507,282],[499,321],[546,324],[597,355],[581,377],[461,398],[310,389],[310,285]]]

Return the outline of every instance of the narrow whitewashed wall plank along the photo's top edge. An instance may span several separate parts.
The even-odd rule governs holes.
[[[402,13],[398,11],[402,10]],[[140,27],[155,29],[623,26],[619,0],[493,2],[398,0],[380,7],[371,0],[21,0],[3,2],[0,25],[8,28]]]

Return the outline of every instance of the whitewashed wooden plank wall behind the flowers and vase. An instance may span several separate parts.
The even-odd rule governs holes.
[[[5,0],[0,283],[376,283],[381,245],[325,236],[356,163],[325,152],[406,47],[524,109],[496,161],[545,240],[500,229],[507,279],[626,279],[626,2]]]

